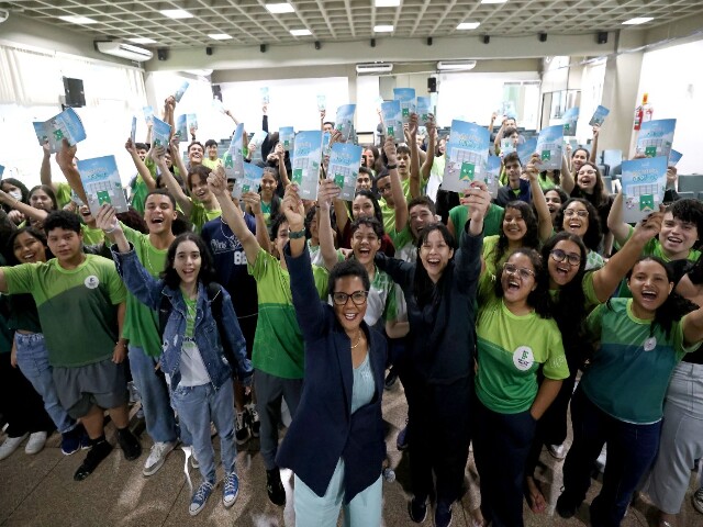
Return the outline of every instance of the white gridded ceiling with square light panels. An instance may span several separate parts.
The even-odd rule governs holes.
[[[280,2],[282,0],[272,0]],[[536,33],[584,34],[625,27],[634,16],[655,20],[635,27],[656,25],[703,13],[701,0],[509,0],[483,4],[479,0],[401,0],[400,8],[373,8],[373,0],[290,0],[295,12],[271,14],[265,0],[26,0],[0,1],[0,9],[77,31],[96,40],[150,37],[147,47],[287,45],[312,41],[348,42],[392,37],[453,37],[467,35],[525,36]],[[172,20],[164,9],[185,9],[191,19]],[[82,15],[96,21],[77,25],[58,19]],[[472,31],[459,31],[461,22],[480,22]],[[392,33],[373,33],[389,24]],[[289,30],[306,29],[310,36],[292,36]],[[215,41],[211,33],[226,33]]]

